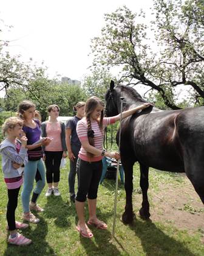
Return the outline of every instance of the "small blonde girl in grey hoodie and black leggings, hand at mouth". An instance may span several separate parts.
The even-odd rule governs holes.
[[[7,222],[10,236],[8,242],[16,245],[30,244],[32,240],[25,238],[17,232],[16,229],[25,229],[28,224],[15,221],[15,210],[18,205],[18,193],[21,188],[22,168],[27,158],[27,138],[22,136],[20,140],[16,140],[16,137],[20,137],[22,132],[21,119],[17,117],[7,118],[2,125],[2,130],[7,134],[7,138],[1,143],[2,154],[2,171],[4,172],[4,180],[7,185],[8,192],[8,204],[7,204]]]

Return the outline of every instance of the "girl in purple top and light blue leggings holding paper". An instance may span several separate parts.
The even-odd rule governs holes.
[[[43,211],[43,209],[36,204],[36,201],[45,185],[45,171],[41,159],[42,145],[47,146],[50,143],[50,139],[46,137],[39,140],[41,135],[40,123],[38,119],[33,119],[35,117],[35,104],[33,104],[33,102],[22,101],[18,106],[18,112],[19,116],[24,120],[22,129],[28,139],[27,152],[29,158],[24,169],[24,185],[21,193],[22,208],[24,211],[23,218],[26,221],[38,223],[39,219],[36,218],[30,210],[35,210],[36,212]],[[36,187],[33,190],[35,177],[38,177],[38,179],[36,180]],[[33,195],[30,201],[32,190]]]

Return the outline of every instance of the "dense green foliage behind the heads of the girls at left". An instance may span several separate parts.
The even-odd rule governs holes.
[[[29,90],[10,88],[5,96],[5,110],[17,111],[19,102],[29,99],[36,104],[36,109],[47,118],[47,107],[56,104],[61,116],[72,116],[73,105],[86,100],[87,96],[78,85],[58,84],[54,80],[36,79],[29,84]]]

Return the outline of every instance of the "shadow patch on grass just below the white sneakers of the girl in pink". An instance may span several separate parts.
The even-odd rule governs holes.
[[[75,205],[73,205],[75,209]],[[61,196],[47,197],[47,204],[44,206],[43,215],[47,219],[55,219],[55,225],[58,227],[67,228],[71,226],[67,216],[72,215],[73,209],[63,201]],[[76,213],[75,213],[76,214]]]

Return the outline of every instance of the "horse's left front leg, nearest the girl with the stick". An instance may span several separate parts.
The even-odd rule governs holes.
[[[126,205],[125,205],[125,210],[122,216],[122,220],[124,224],[129,224],[134,219],[134,213],[132,212],[132,189],[133,189],[132,172],[133,172],[134,162],[132,162],[132,160],[129,158],[125,160],[121,158],[121,162],[124,168],[124,176],[125,176],[124,188],[126,191]]]

